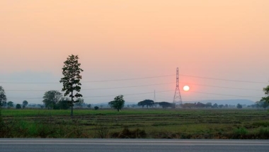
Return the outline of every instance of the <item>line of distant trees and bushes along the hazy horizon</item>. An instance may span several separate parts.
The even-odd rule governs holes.
[[[253,108],[263,108],[263,109],[268,109],[269,107],[269,86],[267,86],[266,88],[263,88],[263,91],[265,92],[265,97],[261,98],[261,100],[257,101],[255,104],[253,105],[248,105],[247,107],[253,107]],[[65,95],[67,95],[65,93]],[[80,95],[79,95],[80,96]],[[0,86],[0,107],[7,107],[7,108],[11,108],[14,107],[14,103],[12,101],[6,101],[6,94],[5,94],[5,90],[2,86]],[[44,103],[44,105],[40,105],[38,104],[38,107],[45,107],[48,110],[67,110],[70,107],[72,108],[73,106],[76,106],[78,108],[82,108],[82,107],[88,107],[91,108],[91,104],[86,104],[84,103],[84,99],[83,98],[76,98],[76,100],[70,100],[69,98],[64,98],[62,93],[60,93],[57,90],[48,90],[45,92],[44,96],[43,96],[43,100],[42,102]],[[122,108],[125,106],[125,100],[123,99],[123,95],[118,95],[114,98],[113,101],[110,101],[108,103],[108,105],[112,108],[114,108],[115,110],[118,110],[118,112],[120,110],[122,110]],[[28,101],[27,100],[23,100],[22,104],[16,104],[16,109],[21,109],[21,108],[25,108],[28,106]],[[29,105],[32,107],[35,107],[36,105]],[[135,107],[136,105],[127,105],[127,107]],[[137,106],[139,107],[162,107],[162,108],[175,108],[176,105],[173,103],[168,103],[168,102],[158,102],[155,103],[154,100],[142,100],[139,103],[137,103]],[[184,103],[182,105],[180,105],[182,108],[228,108],[228,107],[237,107],[238,109],[241,109],[243,107],[246,107],[246,105],[241,105],[241,104],[237,104],[237,105],[217,105],[217,103]],[[102,108],[103,105],[100,105],[100,107]],[[99,107],[95,106],[94,107],[95,110],[98,110]]]

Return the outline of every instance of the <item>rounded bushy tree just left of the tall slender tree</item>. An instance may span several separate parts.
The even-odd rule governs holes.
[[[48,109],[54,109],[55,105],[62,98],[62,93],[57,90],[48,90],[44,93],[43,103]]]

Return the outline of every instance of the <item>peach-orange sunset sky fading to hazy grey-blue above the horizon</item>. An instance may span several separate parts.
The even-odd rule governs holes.
[[[1,0],[0,86],[42,103],[79,55],[86,103],[257,101],[269,81],[268,0]],[[225,80],[225,81],[224,81]],[[183,91],[183,86],[190,91]],[[237,103],[234,103],[235,105]]]

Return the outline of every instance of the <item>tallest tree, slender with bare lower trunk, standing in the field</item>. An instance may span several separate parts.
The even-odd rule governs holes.
[[[62,68],[64,77],[59,81],[63,83],[62,91],[65,91],[64,96],[69,95],[71,98],[71,117],[73,116],[74,103],[78,102],[74,98],[82,97],[79,91],[81,90],[80,80],[82,78],[80,74],[83,70],[79,66],[81,66],[79,57],[71,54],[71,56],[67,57],[67,61],[64,62],[64,67]],[[76,91],[76,94],[74,94],[74,91]]]

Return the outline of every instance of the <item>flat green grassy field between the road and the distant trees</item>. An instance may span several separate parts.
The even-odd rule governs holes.
[[[1,110],[1,137],[269,139],[266,110]]]

